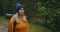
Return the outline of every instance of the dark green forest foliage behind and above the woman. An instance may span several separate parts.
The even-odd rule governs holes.
[[[56,19],[60,17],[60,0],[0,0],[0,15],[15,13],[15,4],[25,6],[25,14],[33,23],[48,27],[56,32]],[[59,17],[58,17],[59,16]]]

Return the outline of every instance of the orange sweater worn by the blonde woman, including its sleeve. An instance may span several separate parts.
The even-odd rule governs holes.
[[[27,20],[24,21],[22,19],[23,17],[20,17],[20,22],[16,24],[15,26],[15,32],[29,32],[29,25],[28,25],[28,22]],[[9,22],[9,25],[8,25],[8,31],[9,32],[13,32],[13,22],[14,22],[14,18],[12,17],[10,19],[10,22]]]

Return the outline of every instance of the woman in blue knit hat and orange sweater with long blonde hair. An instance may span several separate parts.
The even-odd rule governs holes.
[[[29,32],[29,25],[22,4],[16,4],[16,14],[10,19],[8,27],[9,32]]]

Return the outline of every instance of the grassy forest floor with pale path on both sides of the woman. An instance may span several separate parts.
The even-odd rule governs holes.
[[[6,19],[3,16],[0,16],[0,32],[8,32],[8,19]],[[30,32],[52,32],[50,29],[37,25],[37,24],[33,24],[33,23],[29,23],[29,27],[30,27]]]

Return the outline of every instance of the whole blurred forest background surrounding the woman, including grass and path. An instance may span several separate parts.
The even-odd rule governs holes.
[[[25,6],[30,32],[60,32],[60,0],[0,0],[0,32],[8,31],[16,3]]]

